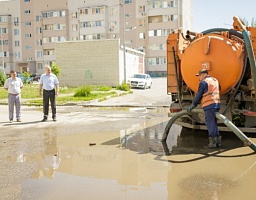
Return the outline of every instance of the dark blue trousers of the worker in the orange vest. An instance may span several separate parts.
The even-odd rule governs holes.
[[[217,126],[217,119],[215,117],[215,113],[218,112],[219,109],[211,108],[204,111],[205,113],[205,123],[208,129],[209,137],[219,137],[219,129]]]

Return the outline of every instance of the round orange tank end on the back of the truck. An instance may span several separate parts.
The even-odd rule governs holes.
[[[195,74],[207,69],[218,79],[221,94],[238,83],[244,65],[244,44],[223,35],[207,34],[196,38],[185,49],[181,59],[181,74],[187,86],[197,92],[199,79]]]

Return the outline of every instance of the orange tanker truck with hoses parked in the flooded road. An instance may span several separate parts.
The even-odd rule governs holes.
[[[169,116],[186,110],[198,89],[195,74],[207,69],[221,85],[221,110],[241,131],[256,133],[256,27],[237,17],[233,29],[181,31],[167,39],[167,92],[172,96]],[[200,105],[197,107],[200,108]],[[180,117],[177,124],[207,130],[203,112]],[[220,131],[230,131],[218,123]]]

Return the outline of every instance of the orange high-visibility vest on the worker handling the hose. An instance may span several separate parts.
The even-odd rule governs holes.
[[[208,91],[203,94],[202,107],[204,108],[210,104],[220,103],[220,90],[217,79],[213,77],[206,77],[204,81],[208,85]]]

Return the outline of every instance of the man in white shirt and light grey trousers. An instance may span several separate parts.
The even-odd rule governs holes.
[[[20,78],[17,77],[16,71],[11,71],[11,77],[4,83],[4,89],[8,91],[8,106],[9,106],[9,120],[13,122],[14,105],[16,108],[17,122],[21,122],[20,105],[21,105],[21,89],[23,83]]]

